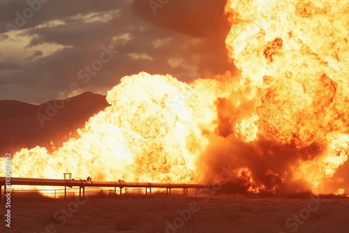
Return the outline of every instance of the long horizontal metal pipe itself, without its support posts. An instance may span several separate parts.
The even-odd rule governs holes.
[[[5,185],[6,178],[0,177],[0,184]],[[12,186],[94,186],[119,188],[211,188],[210,185],[197,183],[140,183],[124,181],[87,181],[81,179],[37,179],[11,177]]]

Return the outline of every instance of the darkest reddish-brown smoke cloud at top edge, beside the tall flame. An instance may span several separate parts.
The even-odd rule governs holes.
[[[158,6],[150,2],[134,0],[132,9],[158,27],[195,37],[210,36],[230,29],[222,17],[226,0],[176,0],[164,5],[159,3]]]

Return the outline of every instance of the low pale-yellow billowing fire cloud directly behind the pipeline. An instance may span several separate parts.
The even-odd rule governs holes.
[[[202,130],[214,130],[215,95],[202,94],[205,101],[170,75],[124,77],[107,93],[111,106],[91,117],[78,130],[80,137],[52,155],[38,146],[22,149],[12,160],[13,176],[60,178],[73,172],[100,180],[191,182],[208,143]]]

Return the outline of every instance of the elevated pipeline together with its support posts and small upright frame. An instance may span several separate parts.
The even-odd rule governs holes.
[[[68,178],[68,179],[67,179]],[[166,195],[171,195],[172,188],[183,188],[183,194],[188,195],[188,188],[195,188],[196,195],[200,195],[200,188],[212,188],[211,185],[196,184],[196,183],[138,183],[124,181],[91,181],[91,180],[75,180],[71,179],[70,173],[64,173],[64,179],[37,179],[37,178],[21,178],[11,177],[11,186],[64,186],[64,199],[66,199],[66,187],[79,187],[79,198],[84,198],[85,187],[109,187],[114,188],[114,193],[117,193],[117,188],[145,188],[145,195],[151,195],[151,188],[166,188]],[[3,197],[5,198],[7,186],[6,177],[0,177],[0,202],[2,186],[4,186]]]

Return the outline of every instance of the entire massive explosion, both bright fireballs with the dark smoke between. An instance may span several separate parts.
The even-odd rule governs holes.
[[[348,12],[346,0],[230,0],[240,77],[123,77],[79,137],[15,153],[13,176],[207,183],[231,165],[246,192],[348,192],[334,177],[349,153]]]

